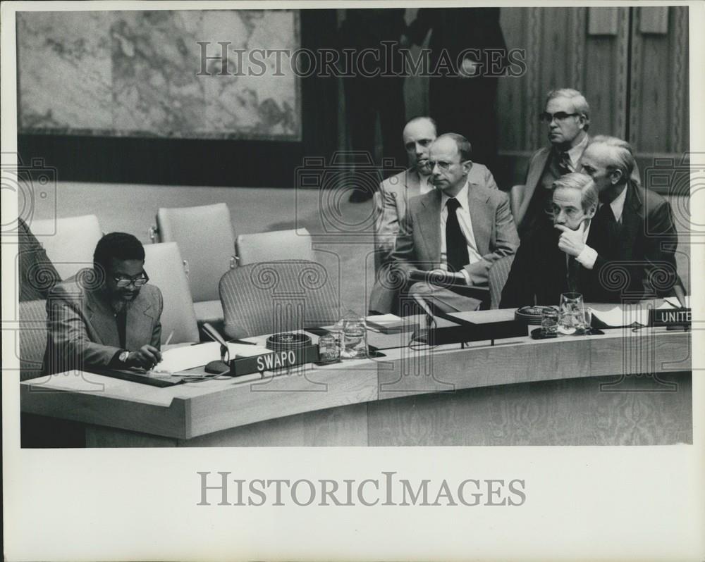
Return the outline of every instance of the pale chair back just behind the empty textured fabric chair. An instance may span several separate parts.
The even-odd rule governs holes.
[[[305,228],[239,235],[235,244],[240,266],[262,261],[315,259],[311,235]]]

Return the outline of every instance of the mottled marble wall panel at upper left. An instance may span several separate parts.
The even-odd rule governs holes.
[[[290,58],[247,64],[252,49],[297,49],[298,20],[292,10],[20,13],[20,132],[298,141]],[[227,75],[221,61],[203,72],[199,42],[209,56],[229,43]],[[245,51],[242,68],[233,49]]]

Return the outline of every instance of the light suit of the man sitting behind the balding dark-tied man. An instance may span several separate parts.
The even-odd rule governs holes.
[[[471,186],[498,189],[492,173],[482,164],[472,164],[467,181]],[[369,296],[369,310],[381,313],[396,312],[398,287],[394,280],[390,279],[389,265],[397,236],[406,220],[409,201],[420,194],[421,177],[415,168],[410,168],[381,182],[379,192],[374,196],[377,276]]]

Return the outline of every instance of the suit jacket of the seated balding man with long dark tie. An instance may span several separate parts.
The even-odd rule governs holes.
[[[508,196],[498,189],[468,186],[470,219],[477,251],[482,260],[465,266],[472,285],[487,285],[487,273],[494,261],[514,254],[519,237],[509,209]],[[439,189],[409,201],[405,225],[392,254],[401,270],[431,270],[441,265],[441,191]]]

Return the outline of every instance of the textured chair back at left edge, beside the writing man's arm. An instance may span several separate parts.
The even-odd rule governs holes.
[[[47,348],[47,301],[20,302],[19,316],[20,380],[27,380],[42,376]]]

